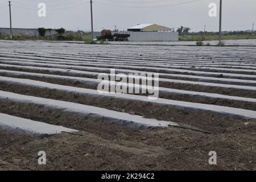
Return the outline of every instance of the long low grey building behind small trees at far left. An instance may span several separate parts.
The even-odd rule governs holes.
[[[34,36],[38,37],[39,32],[38,29],[36,28],[12,28],[13,34],[18,34],[18,35],[26,35],[26,36]],[[49,30],[47,29],[46,31],[46,36],[51,36],[58,34],[56,30]],[[0,35],[10,35],[10,28],[0,28]]]

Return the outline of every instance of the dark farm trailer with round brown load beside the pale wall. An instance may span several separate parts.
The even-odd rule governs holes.
[[[97,36],[98,40],[108,40],[108,41],[128,41],[128,38],[130,37],[130,34],[118,34],[115,33],[112,35],[112,32],[110,30],[102,30],[101,36]]]

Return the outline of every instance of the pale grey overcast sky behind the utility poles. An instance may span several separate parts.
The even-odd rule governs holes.
[[[175,28],[182,25],[192,31],[203,31],[206,24],[207,31],[218,31],[218,17],[208,15],[212,2],[218,5],[219,0],[94,0],[94,30],[114,29],[114,25],[127,30],[139,23],[156,23]],[[256,23],[256,0],[222,2],[224,30],[251,30]],[[39,3],[46,3],[46,17],[38,16]],[[7,4],[0,0],[0,27],[9,27]],[[90,29],[89,0],[13,0],[11,4],[14,28]]]

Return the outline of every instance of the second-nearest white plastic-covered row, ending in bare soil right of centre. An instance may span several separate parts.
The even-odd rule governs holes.
[[[157,121],[156,119],[147,119],[139,115],[121,113],[100,107],[76,104],[73,102],[51,100],[41,97],[24,96],[11,92],[0,91],[0,100],[43,105],[44,107],[50,109],[59,109],[67,113],[81,114],[88,118],[100,119],[101,121],[117,123],[118,125],[124,127],[133,127],[140,130],[154,127],[178,126],[177,123],[174,122]]]

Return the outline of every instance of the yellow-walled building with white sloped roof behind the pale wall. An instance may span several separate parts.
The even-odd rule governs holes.
[[[163,32],[171,31],[171,28],[160,26],[158,24],[137,24],[137,26],[128,28],[131,32]]]

